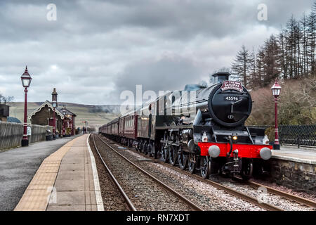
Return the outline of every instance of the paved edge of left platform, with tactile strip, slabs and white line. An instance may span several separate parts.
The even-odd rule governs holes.
[[[103,210],[88,136],[68,142],[42,162],[15,211]]]

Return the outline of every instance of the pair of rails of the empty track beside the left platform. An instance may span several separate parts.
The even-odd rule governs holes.
[[[174,196],[176,196],[176,198],[180,199],[183,203],[185,203],[192,210],[203,211],[201,207],[195,205],[195,203],[192,203],[190,200],[185,198],[183,195],[180,195],[180,193],[178,193],[177,191],[173,190],[173,188],[170,188],[169,186],[164,184],[162,181],[159,181],[159,179],[157,179],[156,177],[154,177],[151,174],[145,172],[144,169],[138,167],[138,165],[136,165],[133,162],[131,162],[131,160],[127,159],[124,155],[121,155],[117,150],[115,150],[112,146],[110,146],[110,144],[106,143],[103,139],[101,139],[100,136],[98,136],[98,139],[100,141],[102,141],[103,143],[105,143],[107,148],[112,150],[113,153],[115,153],[116,155],[119,155],[119,157],[124,159],[126,162],[128,162],[129,165],[133,166],[138,171],[140,171],[141,173],[145,174],[147,177],[149,177],[156,184],[158,184],[159,186],[162,186],[162,188],[166,189],[166,191],[169,191],[169,193],[172,193]],[[119,181],[117,181],[117,179],[114,177],[114,174],[111,172],[110,168],[107,166],[105,160],[103,160],[103,156],[100,153],[100,150],[98,149],[98,146],[96,144],[95,135],[93,135],[93,144],[94,144],[94,147],[96,148],[96,151],[97,151],[97,153],[98,153],[98,155],[100,157],[100,160],[103,162],[103,165],[105,166],[105,169],[107,170],[108,174],[110,174],[110,177],[111,177],[112,181],[114,182],[114,184],[119,189],[119,192],[121,193],[122,197],[124,198],[124,200],[126,202],[126,205],[128,205],[129,210],[137,211],[137,207],[135,206],[135,204],[132,203],[131,198],[129,198],[129,196],[126,194],[126,192],[124,191],[124,188],[119,184]]]

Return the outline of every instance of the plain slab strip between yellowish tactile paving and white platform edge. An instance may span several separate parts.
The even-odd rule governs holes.
[[[54,186],[57,198],[55,203],[48,203],[48,211],[97,210],[91,156],[84,141],[78,140],[62,158],[62,169],[58,172]]]

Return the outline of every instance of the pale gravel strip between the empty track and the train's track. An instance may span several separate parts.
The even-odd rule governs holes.
[[[145,169],[147,172],[155,176],[157,179],[163,181],[171,188],[176,189],[193,203],[201,206],[203,210],[209,211],[261,211],[261,207],[251,204],[236,198],[223,190],[219,190],[206,184],[205,182],[193,179],[187,174],[177,172],[174,169],[155,163],[154,160],[149,160],[146,157],[129,149],[118,149],[117,146],[112,145],[119,153],[129,158],[129,160],[136,163],[138,166]]]

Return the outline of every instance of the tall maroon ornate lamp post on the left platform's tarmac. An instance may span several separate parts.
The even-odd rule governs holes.
[[[24,98],[24,131],[23,138],[21,141],[21,146],[29,146],[29,139],[27,138],[27,88],[31,84],[32,77],[27,72],[27,66],[25,67],[25,72],[21,76],[22,86],[25,88],[25,98]]]

